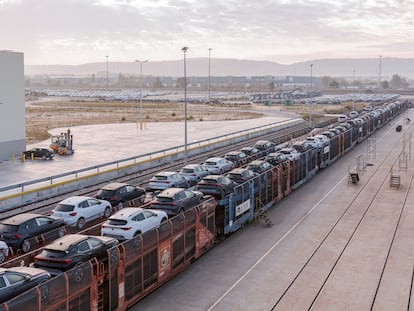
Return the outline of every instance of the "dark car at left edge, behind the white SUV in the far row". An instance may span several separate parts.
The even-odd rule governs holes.
[[[34,249],[34,237],[53,230],[56,230],[56,239],[63,236],[65,222],[59,218],[31,213],[18,214],[0,221],[0,239],[14,251],[20,249],[23,253]]]

